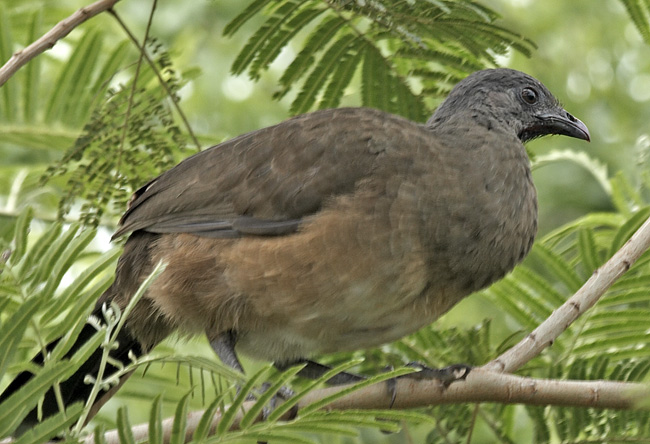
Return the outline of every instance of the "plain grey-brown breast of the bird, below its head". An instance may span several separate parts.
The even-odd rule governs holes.
[[[537,231],[537,197],[521,144],[479,147],[443,160],[446,177],[422,204],[433,279],[461,293],[500,279],[529,252]]]

